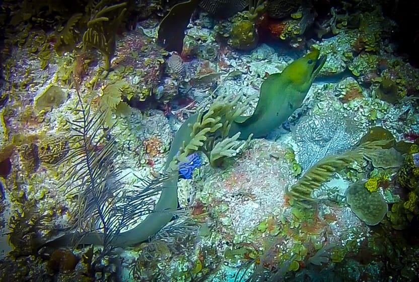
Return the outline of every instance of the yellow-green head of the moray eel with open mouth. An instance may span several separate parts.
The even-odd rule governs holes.
[[[307,89],[313,82],[326,61],[326,56],[320,56],[320,51],[313,49],[307,55],[295,60],[284,69],[282,75],[288,77],[294,87]]]

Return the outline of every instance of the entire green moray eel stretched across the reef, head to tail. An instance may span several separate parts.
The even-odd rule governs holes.
[[[292,62],[282,73],[270,75],[260,87],[259,101],[253,115],[238,118],[232,124],[230,137],[239,131],[241,139],[247,139],[250,134],[254,137],[263,137],[285,122],[301,106],[325,59],[324,56],[319,57],[318,50],[314,50]],[[171,144],[165,172],[169,172],[169,163],[182,144],[190,141],[192,130],[189,125],[195,123],[197,116],[197,114],[190,116],[177,131]],[[163,183],[164,188],[154,212],[133,229],[116,235],[111,244],[120,247],[135,245],[146,241],[162,229],[172,219],[177,208],[177,182],[178,175],[175,173]],[[100,233],[90,233],[82,239],[77,235],[79,234],[66,234],[43,245],[71,246],[76,242],[100,245],[103,242],[103,235]]]

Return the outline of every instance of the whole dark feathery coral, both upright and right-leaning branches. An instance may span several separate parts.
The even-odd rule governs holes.
[[[139,178],[140,184],[134,185],[133,191],[118,190],[125,175],[121,175],[121,170],[112,162],[117,157],[116,137],[111,135],[114,126],[105,128],[106,112],[93,112],[90,106],[83,104],[79,92],[77,95],[79,109],[76,111],[80,118],[68,121],[74,134],[70,138],[69,153],[60,161],[71,164],[61,187],[65,185],[65,194],[78,201],[72,213],[76,232],[60,237],[61,240],[56,238],[55,245],[60,242],[83,244],[84,235],[95,234],[105,254],[112,250],[112,242],[122,230],[153,212],[164,182],[173,175]],[[53,245],[54,240],[49,243]]]

